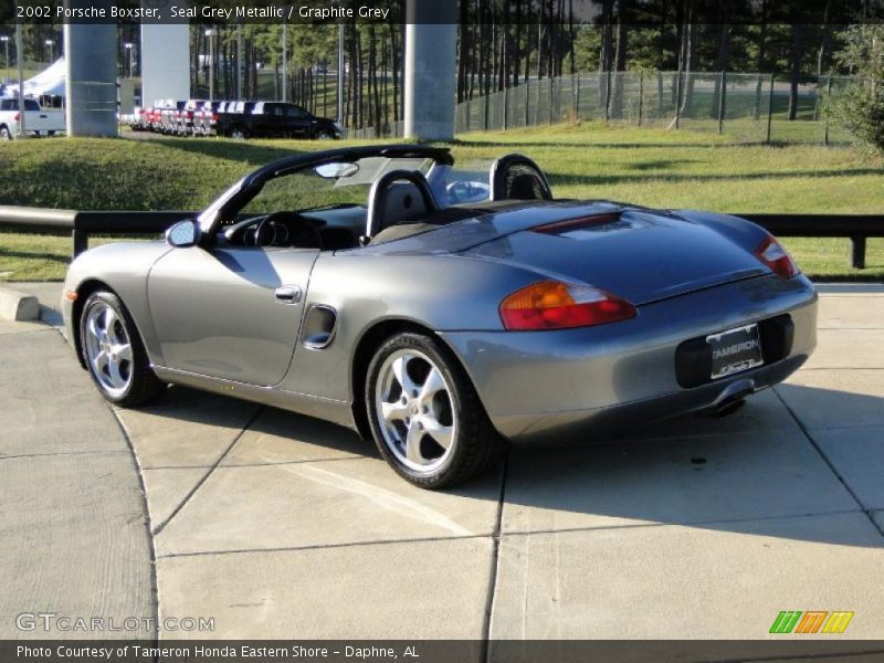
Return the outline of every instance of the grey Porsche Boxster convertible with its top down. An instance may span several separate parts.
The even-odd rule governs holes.
[[[293,156],[165,241],[72,264],[69,338],[122,407],[169,383],[373,438],[422,487],[507,443],[727,414],[815,345],[817,294],[743,219],[554,199],[508,155],[446,148]]]

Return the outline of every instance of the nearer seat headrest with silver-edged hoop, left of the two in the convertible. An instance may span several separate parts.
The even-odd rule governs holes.
[[[392,170],[378,179],[368,194],[366,241],[391,225],[420,221],[438,210],[420,172]]]

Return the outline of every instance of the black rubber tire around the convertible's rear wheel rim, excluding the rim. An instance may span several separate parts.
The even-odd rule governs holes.
[[[450,452],[443,455],[440,466],[429,472],[408,466],[390,448],[381,430],[376,403],[378,381],[387,359],[393,355],[400,356],[402,351],[414,350],[428,357],[446,382],[449,417],[454,431]],[[431,336],[403,333],[386,340],[369,364],[364,396],[378,451],[397,474],[421,488],[448,488],[470,481],[496,464],[506,449],[506,442],[494,430],[466,371],[452,352]],[[422,444],[425,443],[424,438]]]

